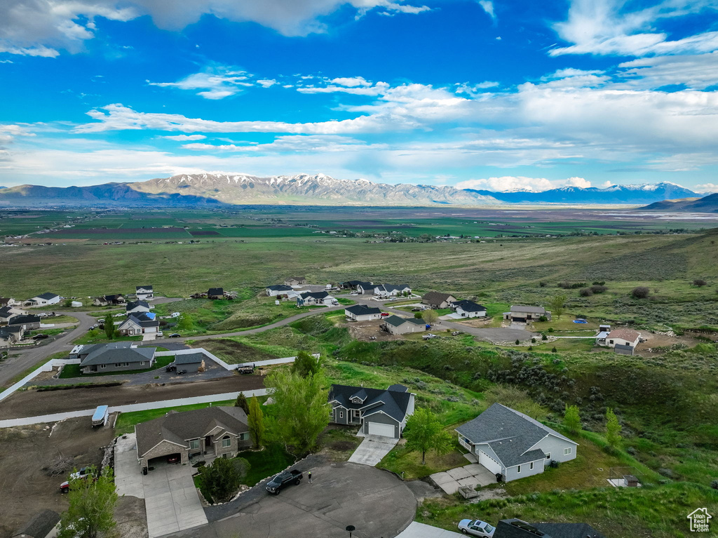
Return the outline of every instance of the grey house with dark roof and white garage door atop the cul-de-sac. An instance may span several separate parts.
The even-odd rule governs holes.
[[[398,439],[406,420],[414,414],[414,399],[416,394],[404,385],[391,385],[386,390],[332,385],[329,391],[331,422],[361,425],[366,435]]]

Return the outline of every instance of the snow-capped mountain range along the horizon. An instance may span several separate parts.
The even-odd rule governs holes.
[[[388,185],[337,180],[323,174],[256,177],[246,174],[182,174],[132,183],[89,187],[20,185],[0,190],[0,203],[25,205],[498,205],[627,204],[697,196],[673,183],[561,187],[544,192],[457,189],[437,185]]]

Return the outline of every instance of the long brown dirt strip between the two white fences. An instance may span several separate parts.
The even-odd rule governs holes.
[[[93,409],[98,405],[140,404],[252,389],[264,389],[264,376],[232,376],[164,386],[105,386],[45,392],[29,390],[16,392],[5,399],[0,407],[0,419],[37,417]]]

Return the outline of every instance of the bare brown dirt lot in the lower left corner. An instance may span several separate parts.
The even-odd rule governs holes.
[[[52,432],[52,435],[50,434]],[[42,468],[57,455],[75,459],[75,465],[100,465],[103,448],[113,440],[113,430],[93,430],[88,417],[52,425],[0,430],[0,538],[11,536],[32,515],[45,508],[60,513],[67,496],[59,490],[66,478],[47,476]]]

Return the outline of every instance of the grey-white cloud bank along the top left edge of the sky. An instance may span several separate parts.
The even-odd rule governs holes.
[[[0,52],[55,57],[79,52],[94,37],[97,17],[129,21],[149,15],[162,29],[180,30],[204,14],[233,22],[256,22],[287,36],[325,32],[318,17],[349,4],[358,15],[372,9],[418,14],[422,5],[388,0],[2,0]]]

